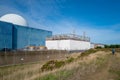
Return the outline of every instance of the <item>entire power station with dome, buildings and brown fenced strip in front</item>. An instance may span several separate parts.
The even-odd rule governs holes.
[[[52,35],[52,31],[30,27],[20,15],[0,17],[0,65],[61,59],[97,46],[103,45],[91,44],[85,33]]]

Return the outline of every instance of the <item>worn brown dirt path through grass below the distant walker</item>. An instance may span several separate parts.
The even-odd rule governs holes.
[[[120,55],[109,55],[107,63],[101,67],[100,70],[97,70],[95,73],[86,75],[87,77],[83,80],[116,80],[117,74],[110,72],[110,70],[115,70],[120,66]],[[82,79],[80,79],[82,80]]]

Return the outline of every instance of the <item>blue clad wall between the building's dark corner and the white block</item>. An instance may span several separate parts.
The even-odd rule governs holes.
[[[15,31],[15,39],[17,40],[16,49],[25,48],[26,46],[45,46],[45,38],[48,36],[52,36],[51,31],[35,29],[30,27],[22,27],[22,26],[14,26]]]

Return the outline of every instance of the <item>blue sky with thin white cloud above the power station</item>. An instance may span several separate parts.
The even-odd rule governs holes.
[[[23,16],[30,27],[120,44],[120,0],[0,0],[0,17]]]

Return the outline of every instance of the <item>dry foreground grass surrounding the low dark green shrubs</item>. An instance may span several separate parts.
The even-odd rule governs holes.
[[[0,80],[96,80],[95,77],[103,75],[111,76],[107,71],[104,71],[111,69],[111,67],[108,67],[112,64],[108,65],[111,60],[110,58],[113,57],[110,53],[109,51],[102,50],[82,58],[78,58],[81,53],[66,55],[66,57],[73,57],[75,60],[58,69],[45,72],[41,71],[41,67],[45,62],[1,67]],[[115,57],[119,60],[120,55]],[[66,60],[66,58],[63,60]],[[98,74],[98,72],[101,72],[103,75]],[[95,77],[92,77],[92,75],[95,75]],[[108,78],[104,78],[103,80],[105,79],[108,80]],[[102,78],[98,80],[102,80]]]

